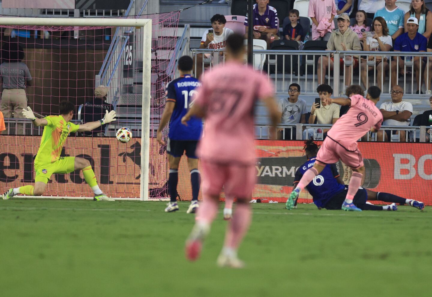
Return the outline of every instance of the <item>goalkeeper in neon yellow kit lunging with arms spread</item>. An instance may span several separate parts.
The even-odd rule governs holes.
[[[58,116],[48,116],[43,119],[37,119],[30,107],[22,110],[25,118],[32,120],[35,126],[44,126],[42,133],[41,145],[35,158],[35,186],[21,186],[19,188],[9,189],[1,198],[10,199],[17,194],[29,196],[41,196],[50,180],[51,174],[66,174],[75,170],[82,170],[84,179],[92,187],[95,193],[94,200],[97,201],[114,201],[107,197],[99,189],[90,162],[84,158],[60,157],[61,149],[69,133],[91,131],[103,124],[110,123],[115,119],[115,111],[106,111],[102,120],[76,125],[71,123],[75,106],[69,101],[61,101],[59,104]]]

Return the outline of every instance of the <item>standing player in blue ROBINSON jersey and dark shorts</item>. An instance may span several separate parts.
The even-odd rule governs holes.
[[[178,70],[180,77],[174,79],[166,86],[166,103],[162,118],[159,123],[157,140],[161,145],[165,145],[162,140],[162,130],[169,123],[168,139],[166,142],[166,152],[169,162],[168,190],[171,201],[165,208],[165,212],[175,212],[178,210],[177,204],[177,183],[178,183],[178,163],[186,151],[187,163],[191,171],[192,201],[187,209],[187,213],[194,213],[198,208],[198,193],[200,192],[200,171],[198,171],[198,158],[195,155],[197,142],[201,137],[203,122],[199,118],[192,118],[187,122],[187,126],[181,124],[181,118],[192,105],[192,96],[195,88],[200,86],[198,79],[191,76],[193,60],[189,56],[178,59]]]

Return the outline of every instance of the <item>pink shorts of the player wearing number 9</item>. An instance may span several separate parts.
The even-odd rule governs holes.
[[[339,161],[339,158],[351,168],[356,169],[363,166],[363,157],[357,146],[354,151],[347,150],[338,142],[327,136],[315,160],[324,164],[333,164]]]

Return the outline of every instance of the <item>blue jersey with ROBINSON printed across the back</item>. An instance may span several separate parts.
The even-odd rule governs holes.
[[[174,79],[166,86],[166,101],[175,102],[169,122],[168,137],[172,140],[199,140],[203,129],[203,121],[196,117],[187,122],[187,126],[181,123],[181,118],[187,113],[192,104],[192,96],[195,88],[201,83],[198,79],[184,75]]]

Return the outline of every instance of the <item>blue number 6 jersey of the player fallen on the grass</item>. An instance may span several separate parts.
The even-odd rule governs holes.
[[[295,172],[294,186],[300,181],[303,174],[314,166],[315,158],[310,158]],[[324,170],[318,174],[307,186],[309,193],[314,199],[315,205],[324,208],[324,205],[337,193],[345,189],[345,185],[337,182],[336,177],[339,177],[335,164],[328,164]]]

